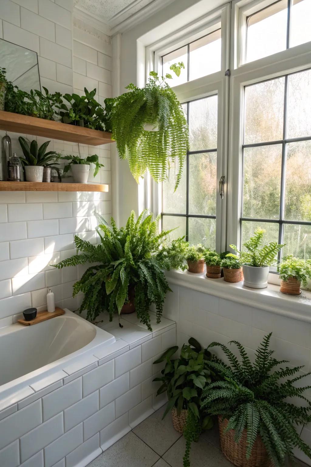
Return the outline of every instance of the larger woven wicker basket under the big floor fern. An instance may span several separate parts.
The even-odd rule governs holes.
[[[243,430],[239,444],[235,443],[235,432],[224,433],[228,420],[218,417],[221,451],[236,467],[274,467],[260,436],[257,436],[249,459],[246,459],[246,430]]]

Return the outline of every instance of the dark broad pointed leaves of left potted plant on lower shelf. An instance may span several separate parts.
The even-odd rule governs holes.
[[[57,154],[54,151],[46,152],[50,141],[44,142],[40,148],[38,148],[38,143],[35,140],[29,144],[25,138],[20,136],[18,141],[20,142],[21,149],[25,156],[25,158],[20,157],[23,165],[40,165],[48,167],[49,165],[57,163],[55,162],[55,159],[58,159]],[[50,163],[52,160],[53,163]]]

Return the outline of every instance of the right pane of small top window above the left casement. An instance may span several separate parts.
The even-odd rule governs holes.
[[[191,42],[189,80],[221,70],[221,29]]]

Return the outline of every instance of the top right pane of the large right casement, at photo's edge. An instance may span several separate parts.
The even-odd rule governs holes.
[[[311,70],[288,77],[287,107],[287,138],[311,136]]]

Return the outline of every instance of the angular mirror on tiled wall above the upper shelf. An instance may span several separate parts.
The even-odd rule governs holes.
[[[7,70],[7,80],[22,91],[41,91],[38,55],[33,50],[0,39],[0,66]]]

